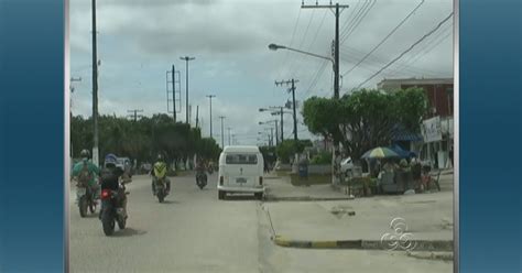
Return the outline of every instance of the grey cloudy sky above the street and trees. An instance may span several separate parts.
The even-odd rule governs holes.
[[[319,4],[329,1],[322,0]],[[394,64],[378,70],[410,48],[452,13],[452,0],[347,0],[339,19],[340,94],[362,86],[374,88],[383,78],[452,77],[453,18],[417,43]],[[307,0],[305,4],[315,4]],[[393,34],[387,37],[414,9]],[[70,0],[70,76],[74,114],[91,114],[91,7]],[[165,73],[181,72],[182,112],[185,120],[185,62],[189,63],[189,105],[196,106],[204,135],[209,134],[213,99],[214,136],[220,142],[220,121],[241,144],[257,144],[259,121],[274,119],[260,107],[284,105],[291,95],[274,80],[295,78],[296,100],[333,96],[328,61],[290,51],[269,51],[270,43],[331,54],[335,17],[326,9],[301,9],[301,0],[98,0],[97,31],[99,111],[127,116],[166,112]],[[381,44],[380,44],[381,43]],[[374,47],[380,44],[376,50]],[[357,65],[369,52],[371,55]],[[356,66],[357,65],[357,66]],[[362,84],[362,85],[361,85]],[[312,136],[298,114],[298,136]],[[292,116],[285,116],[285,138],[292,138]],[[227,136],[227,135],[226,135]],[[228,142],[228,136],[226,138]]]

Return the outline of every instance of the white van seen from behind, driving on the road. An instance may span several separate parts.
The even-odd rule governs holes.
[[[231,193],[264,194],[263,155],[258,146],[225,146],[219,156],[218,198]]]

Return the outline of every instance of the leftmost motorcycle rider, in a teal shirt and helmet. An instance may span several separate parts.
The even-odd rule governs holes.
[[[84,149],[79,154],[81,161],[74,165],[72,176],[76,178],[78,183],[87,183],[87,186],[95,193],[95,199],[98,199],[99,187],[97,177],[99,177],[100,170],[90,161],[89,150]]]

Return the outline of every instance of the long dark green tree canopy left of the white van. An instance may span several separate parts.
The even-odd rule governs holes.
[[[70,119],[70,143],[73,156],[83,149],[93,148],[93,119],[80,116]],[[115,153],[138,162],[152,162],[157,153],[167,161],[177,163],[197,154],[199,157],[217,160],[221,152],[214,139],[202,139],[199,129],[176,122],[166,114],[154,114],[131,121],[113,116],[99,117],[100,155]]]

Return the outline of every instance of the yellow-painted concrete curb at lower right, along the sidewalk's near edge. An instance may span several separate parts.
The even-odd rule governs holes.
[[[290,240],[281,236],[272,238],[273,242],[285,248],[303,249],[357,249],[357,250],[393,250],[385,245],[396,244],[396,241],[381,240],[335,240],[335,241],[303,241]],[[410,251],[453,251],[453,240],[412,240],[415,244]],[[396,248],[394,250],[403,250]]]

